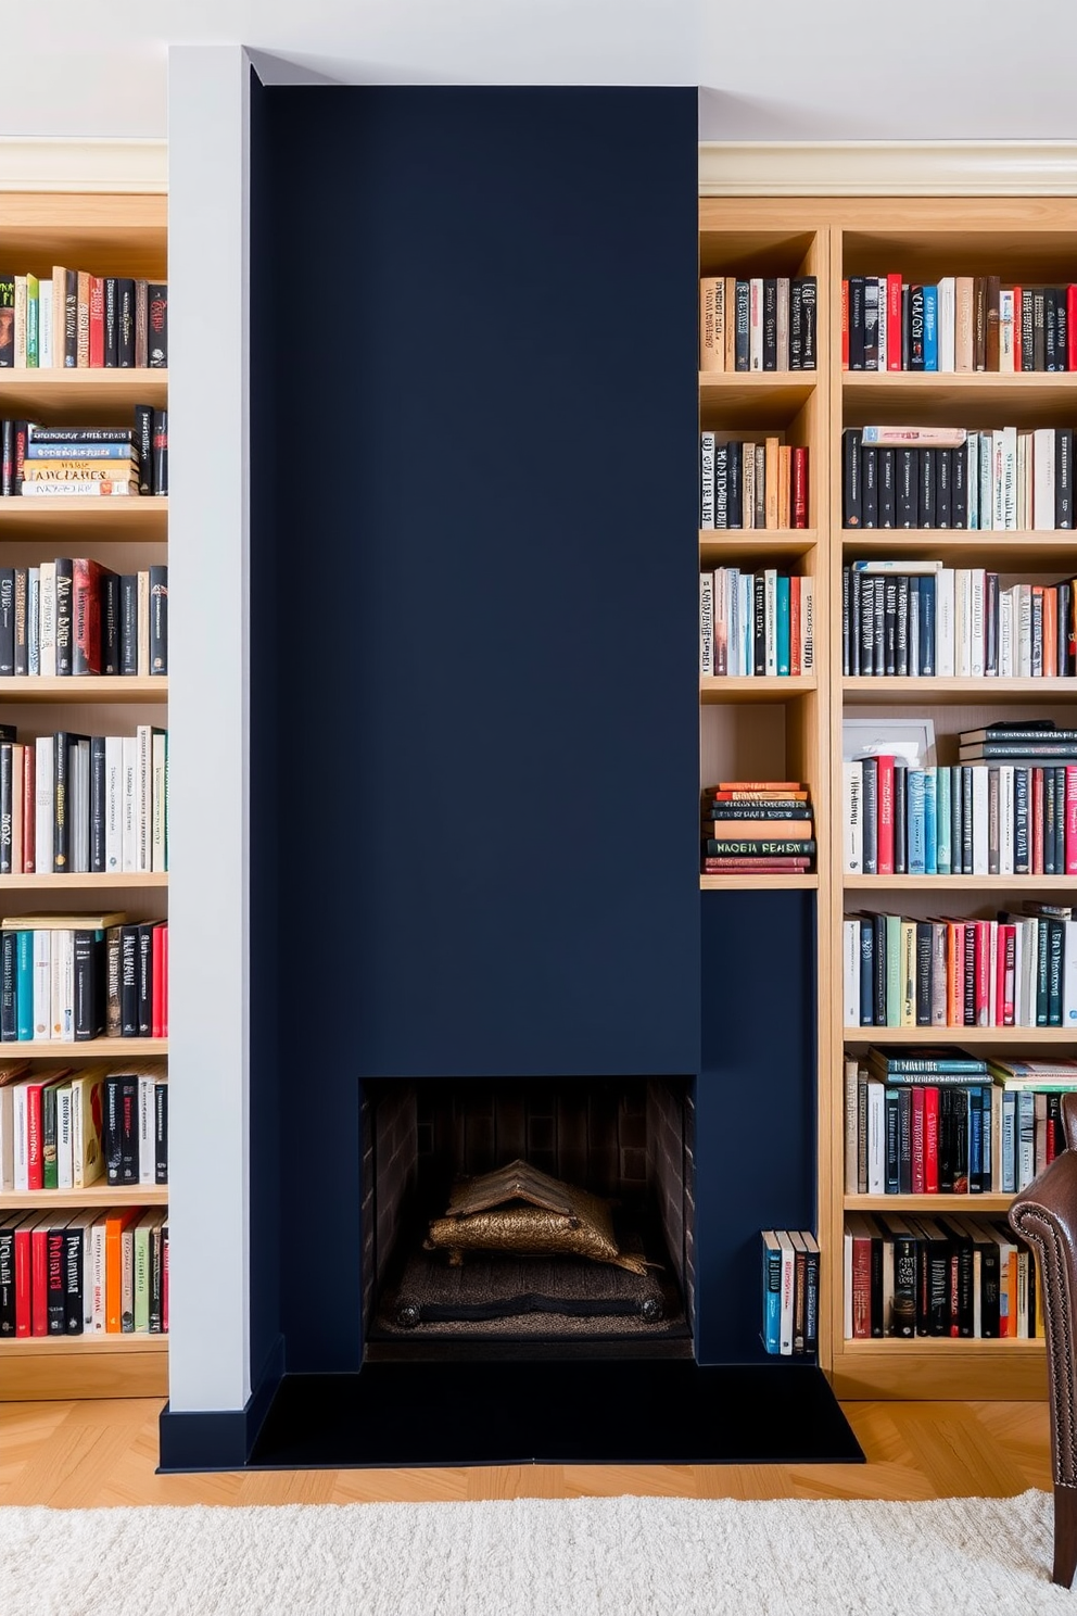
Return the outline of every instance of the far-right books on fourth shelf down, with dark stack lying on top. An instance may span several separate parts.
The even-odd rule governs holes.
[[[961,732],[956,764],[843,763],[843,869],[865,876],[1077,874],[1077,732]]]

